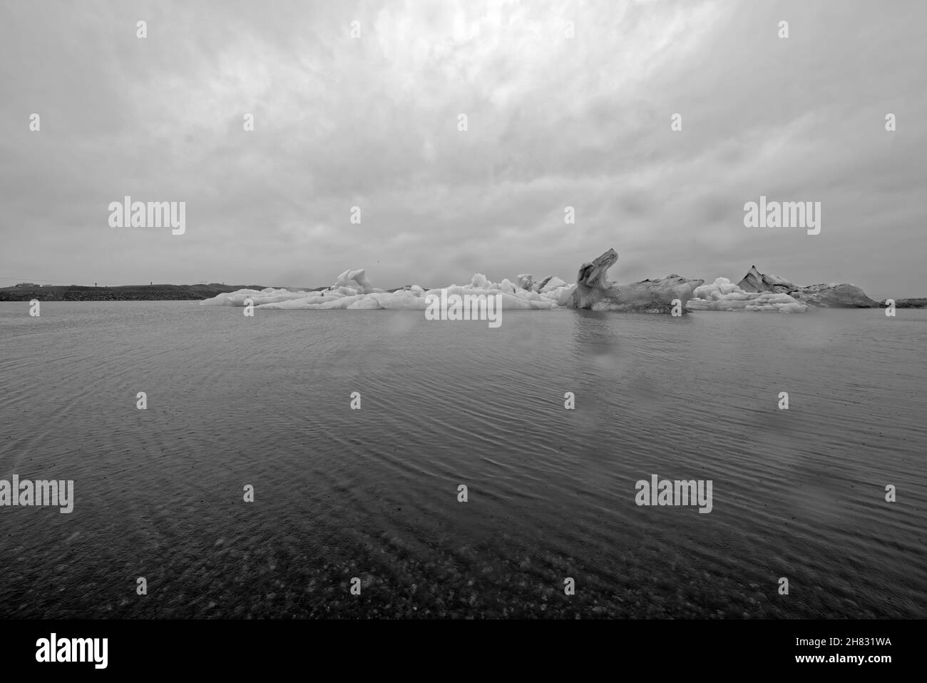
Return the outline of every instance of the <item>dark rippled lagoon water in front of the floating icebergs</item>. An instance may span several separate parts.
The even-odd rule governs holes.
[[[0,508],[4,617],[927,617],[927,311],[28,308],[0,479],[75,500]]]

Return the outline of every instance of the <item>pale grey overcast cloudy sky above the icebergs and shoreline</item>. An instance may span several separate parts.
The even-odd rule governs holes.
[[[2,286],[321,286],[348,268],[377,287],[572,282],[614,247],[618,282],[756,264],[927,296],[922,2],[0,0],[0,15]],[[125,195],[185,201],[184,235],[110,227]],[[820,234],[745,227],[760,195],[820,201]]]

